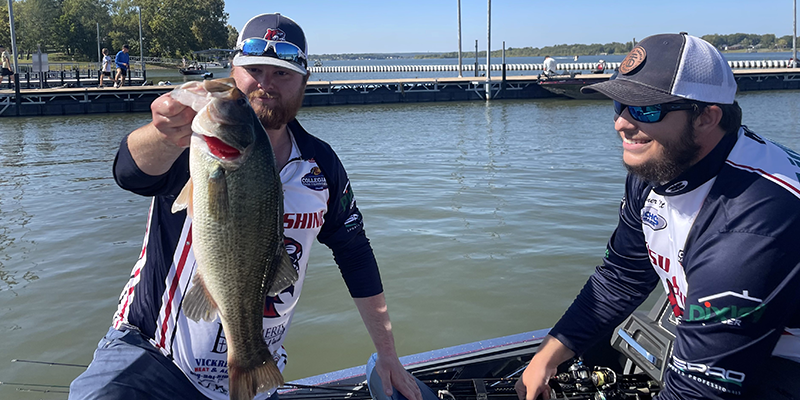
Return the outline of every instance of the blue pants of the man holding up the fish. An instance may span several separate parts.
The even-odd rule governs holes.
[[[277,394],[270,400],[277,400]],[[70,400],[207,400],[139,331],[110,328],[69,387]]]

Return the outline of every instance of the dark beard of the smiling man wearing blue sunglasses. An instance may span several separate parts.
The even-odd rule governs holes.
[[[697,160],[700,145],[695,140],[694,126],[689,119],[678,134],[678,140],[663,144],[660,157],[642,164],[631,166],[625,164],[628,172],[638,175],[648,182],[667,183],[685,172]]]

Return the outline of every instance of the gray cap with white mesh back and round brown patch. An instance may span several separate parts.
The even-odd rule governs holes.
[[[629,106],[678,100],[733,104],[733,71],[711,43],[686,33],[642,39],[620,64],[614,79],[581,88]]]

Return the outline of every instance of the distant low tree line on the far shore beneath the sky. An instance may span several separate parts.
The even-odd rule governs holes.
[[[792,46],[792,35],[776,37],[774,34],[758,35],[747,33],[733,33],[730,35],[705,35],[701,37],[720,50],[734,49],[768,49],[783,50]],[[520,47],[506,49],[506,57],[544,57],[544,56],[575,56],[575,55],[605,55],[627,54],[633,49],[634,42],[612,42],[606,44],[559,44],[554,46]],[[501,57],[501,50],[492,51],[492,57]],[[457,52],[422,54],[414,58],[457,58]],[[474,58],[475,52],[462,52],[462,58]],[[478,57],[486,57],[486,51],[479,51]]]

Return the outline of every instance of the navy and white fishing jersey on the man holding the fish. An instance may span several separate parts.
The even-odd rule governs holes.
[[[298,281],[264,306],[264,340],[282,370],[282,343],[303,287],[311,245],[315,239],[333,251],[336,264],[353,297],[383,291],[378,266],[364,233],[350,181],[331,147],[289,123],[293,149],[280,171],[284,191],[284,245]],[[181,311],[184,294],[197,270],[192,250],[192,221],[186,211],[172,213],[172,203],[189,179],[189,150],[161,176],[137,166],[122,141],[114,162],[120,187],[153,196],[140,258],[120,295],[115,328],[133,325],[163,354],[172,358],[189,380],[212,399],[227,399],[227,342],[219,317],[190,321]],[[266,398],[260,393],[256,398]]]

